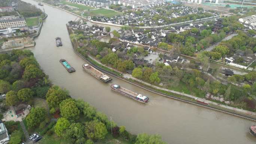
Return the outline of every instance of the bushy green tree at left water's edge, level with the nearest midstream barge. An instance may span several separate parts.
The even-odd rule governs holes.
[[[59,86],[52,86],[46,94],[46,101],[49,108],[59,108],[60,103],[67,99],[68,91],[61,89]]]

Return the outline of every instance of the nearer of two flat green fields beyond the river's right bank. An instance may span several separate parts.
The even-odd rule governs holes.
[[[115,12],[115,10],[110,9],[96,9],[96,10],[90,10],[90,16],[106,16],[106,17],[113,17],[116,15],[122,15],[121,12]],[[84,13],[83,16],[89,16],[88,13]]]

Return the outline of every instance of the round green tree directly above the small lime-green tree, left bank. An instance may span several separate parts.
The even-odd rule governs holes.
[[[74,99],[65,99],[60,103],[61,116],[68,120],[75,120],[79,118],[80,111],[77,108]]]

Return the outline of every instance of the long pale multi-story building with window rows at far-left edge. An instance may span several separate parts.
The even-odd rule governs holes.
[[[17,16],[4,16],[0,18],[0,29],[25,27],[26,25],[25,19]]]

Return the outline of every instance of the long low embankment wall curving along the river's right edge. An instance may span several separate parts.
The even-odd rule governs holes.
[[[67,30],[68,30],[68,26],[67,26]],[[70,34],[69,30],[68,30],[68,34]],[[184,99],[178,98],[178,97],[176,97],[176,96],[174,96],[174,95],[167,95],[167,94],[164,94],[164,93],[162,93],[162,92],[157,92],[157,91],[155,91],[154,89],[148,88],[148,87],[146,87],[146,86],[142,86],[142,85],[139,85],[139,84],[137,84],[137,83],[130,82],[130,81],[128,81],[127,79],[124,79],[124,78],[122,78],[122,77],[117,76],[115,73],[112,73],[112,72],[110,72],[110,71],[106,71],[106,70],[104,70],[103,68],[98,67],[97,65],[95,65],[95,64],[92,63],[90,60],[88,60],[87,58],[85,58],[83,55],[81,55],[79,52],[76,51],[76,49],[73,47],[73,43],[72,43],[71,39],[70,39],[70,42],[71,42],[71,44],[72,44],[72,48],[73,48],[74,52],[75,52],[77,55],[79,55],[81,58],[83,58],[86,62],[88,62],[89,64],[91,64],[93,67],[95,67],[97,70],[103,71],[104,73],[107,73],[107,74],[109,74],[109,75],[111,75],[111,76],[114,76],[114,77],[116,77],[116,78],[118,78],[118,79],[124,80],[125,82],[128,82],[128,83],[130,83],[130,84],[132,84],[132,85],[138,86],[138,87],[140,87],[140,88],[142,88],[142,89],[145,89],[145,90],[147,90],[147,91],[150,91],[150,92],[153,92],[153,93],[155,93],[155,94],[159,94],[159,95],[162,95],[162,96],[165,96],[165,97],[168,97],[168,98],[172,98],[172,99],[176,99],[176,100],[179,100],[179,101],[187,102],[187,103],[189,103],[189,104],[194,104],[194,105],[197,105],[197,106],[199,106],[199,107],[209,108],[209,109],[211,109],[211,110],[216,110],[216,111],[219,111],[219,112],[222,112],[222,113],[230,114],[230,115],[237,116],[237,117],[241,117],[241,118],[244,118],[244,119],[256,121],[255,118],[252,118],[252,117],[249,117],[249,116],[243,116],[243,115],[241,115],[241,114],[236,114],[236,113],[232,113],[232,112],[229,112],[229,111],[225,111],[225,110],[221,110],[221,109],[218,109],[218,108],[214,108],[214,107],[211,107],[210,105],[203,105],[203,104],[196,103],[196,102],[193,102],[193,101],[184,100]],[[232,109],[232,110],[235,110],[235,109]],[[245,114],[251,114],[251,115],[253,114],[252,112],[249,113],[249,111],[245,111],[245,110],[244,110],[243,112],[245,112]]]

